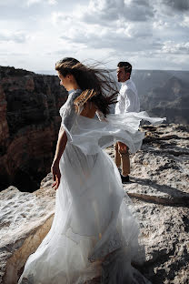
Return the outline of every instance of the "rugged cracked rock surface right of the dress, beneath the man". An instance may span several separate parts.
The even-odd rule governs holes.
[[[145,263],[153,284],[189,283],[189,127],[144,126],[124,184],[141,226]],[[108,153],[114,157],[114,149]]]

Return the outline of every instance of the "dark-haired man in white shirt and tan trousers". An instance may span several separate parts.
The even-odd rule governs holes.
[[[119,62],[117,65],[117,80],[121,83],[114,114],[123,115],[127,112],[139,112],[140,102],[134,82],[131,79],[132,66],[128,62]],[[129,181],[130,159],[128,147],[122,142],[114,145],[114,160],[117,167],[122,168],[122,182]]]

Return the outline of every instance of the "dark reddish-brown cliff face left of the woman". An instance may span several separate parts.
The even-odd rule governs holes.
[[[39,188],[50,171],[66,97],[57,76],[0,66],[0,189]]]

